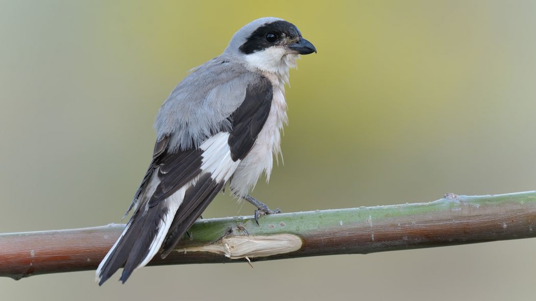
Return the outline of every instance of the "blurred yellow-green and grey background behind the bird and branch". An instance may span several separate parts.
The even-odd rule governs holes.
[[[157,110],[259,17],[315,44],[287,89],[284,212],[536,188],[533,1],[0,0],[0,232],[121,222]],[[220,195],[205,218],[250,215]],[[3,300],[533,300],[536,240],[0,279]]]

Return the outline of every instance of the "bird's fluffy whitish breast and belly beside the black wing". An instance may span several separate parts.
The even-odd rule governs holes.
[[[274,81],[272,81],[274,82]],[[230,188],[239,197],[244,197],[253,189],[259,176],[266,173],[266,181],[270,178],[273,156],[281,153],[281,129],[287,124],[287,103],[285,102],[283,84],[277,80],[273,86],[273,100],[270,114],[257,140],[236,169]]]

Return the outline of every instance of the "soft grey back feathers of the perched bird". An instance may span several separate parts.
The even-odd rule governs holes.
[[[157,139],[172,135],[173,149],[199,146],[219,129],[230,129],[227,120],[244,101],[249,83],[258,75],[222,55],[197,67],[169,95],[158,112]]]

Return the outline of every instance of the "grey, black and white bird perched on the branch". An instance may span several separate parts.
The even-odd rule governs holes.
[[[313,52],[291,22],[260,18],[177,84],[155,118],[152,161],[124,215],[132,216],[96,269],[99,285],[121,267],[125,283],[160,249],[166,258],[224,189],[257,206],[257,223],[280,212],[249,191],[263,172],[270,177],[281,154],[289,69]]]

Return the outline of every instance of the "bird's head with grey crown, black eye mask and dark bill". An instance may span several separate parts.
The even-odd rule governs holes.
[[[279,18],[260,18],[236,32],[225,50],[249,67],[273,73],[288,73],[299,55],[316,52],[291,22]]]

